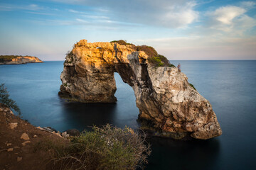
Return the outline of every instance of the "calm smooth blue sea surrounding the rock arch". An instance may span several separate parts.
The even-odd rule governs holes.
[[[177,141],[150,137],[146,169],[256,169],[256,61],[171,61],[210,101],[223,135]],[[132,88],[118,74],[117,103],[70,103],[58,97],[63,62],[0,65],[0,83],[21,108],[23,119],[56,130],[111,123],[137,128]]]

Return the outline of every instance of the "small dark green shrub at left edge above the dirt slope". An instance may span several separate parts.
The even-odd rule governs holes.
[[[4,84],[0,84],[0,103],[3,103],[5,106],[14,109],[18,115],[21,115],[21,110],[18,108],[18,105],[14,100],[9,98],[9,92],[7,91],[6,87],[4,87]]]

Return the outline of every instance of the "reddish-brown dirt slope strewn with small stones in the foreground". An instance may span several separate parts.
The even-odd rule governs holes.
[[[50,152],[36,148],[42,140],[68,142],[21,120],[0,103],[0,170],[53,169]]]

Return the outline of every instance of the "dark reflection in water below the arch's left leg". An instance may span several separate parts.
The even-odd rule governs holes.
[[[116,103],[78,103],[63,101],[63,116],[70,128],[90,129],[88,126],[113,124]]]

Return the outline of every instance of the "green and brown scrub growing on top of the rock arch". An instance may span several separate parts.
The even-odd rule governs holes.
[[[169,60],[164,55],[159,55],[154,47],[147,45],[137,45],[127,43],[125,40],[113,40],[111,42],[117,42],[119,45],[132,45],[134,50],[144,51],[149,56],[149,63],[156,67],[175,67],[174,64],[169,63]]]

